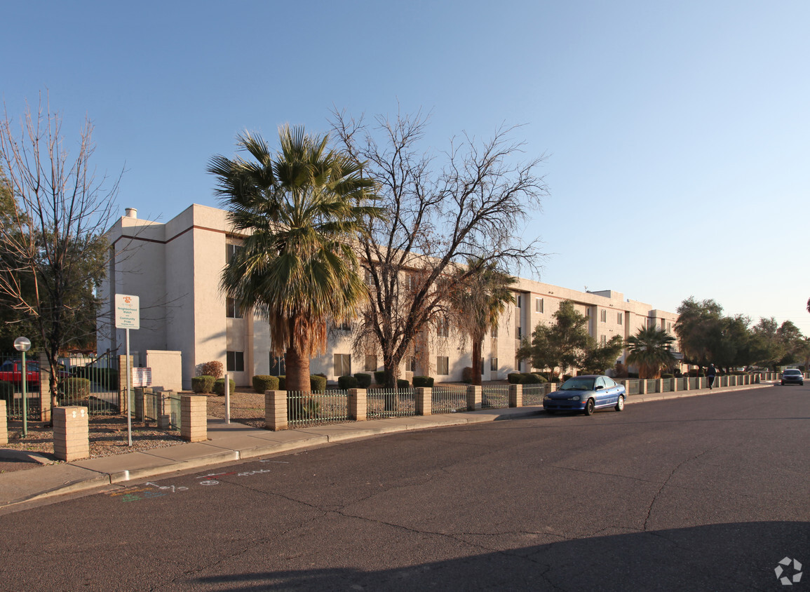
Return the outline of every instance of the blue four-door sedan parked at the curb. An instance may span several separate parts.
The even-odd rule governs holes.
[[[548,413],[555,411],[582,411],[592,415],[596,409],[613,407],[625,409],[625,387],[611,377],[578,376],[563,382],[558,390],[547,394],[543,408]]]

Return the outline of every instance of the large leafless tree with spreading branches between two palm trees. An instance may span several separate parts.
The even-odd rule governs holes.
[[[372,221],[360,240],[369,302],[356,339],[375,343],[386,386],[394,388],[403,357],[419,360],[415,344],[450,316],[449,296],[467,279],[458,273],[467,259],[510,270],[535,266],[539,240],[526,245],[519,236],[527,212],[539,210],[548,194],[537,172],[543,157],[518,162],[522,144],[510,139],[514,128],[501,128],[485,142],[454,138],[434,167],[437,156],[419,147],[427,123],[421,113],[377,117],[370,128],[344,113],[333,116],[337,137],[377,181],[389,215],[385,223]]]

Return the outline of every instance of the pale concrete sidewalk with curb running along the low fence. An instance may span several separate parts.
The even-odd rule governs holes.
[[[723,394],[771,386],[770,383],[718,388],[713,391],[683,390],[674,393],[633,394],[627,403],[659,401],[669,398]],[[397,417],[346,424],[330,424],[271,432],[250,428],[244,424],[225,424],[224,420],[208,419],[208,441],[186,443],[147,452],[116,454],[83,461],[38,466],[26,471],[0,475],[0,509],[23,502],[42,500],[70,492],[83,492],[126,482],[161,477],[175,471],[189,471],[225,462],[312,448],[341,441],[357,440],[394,432],[426,428],[480,424],[495,420],[512,420],[544,413],[543,407],[514,407],[458,413]],[[0,450],[10,453],[11,450]],[[16,451],[15,451],[16,452]],[[19,454],[19,453],[17,453]]]

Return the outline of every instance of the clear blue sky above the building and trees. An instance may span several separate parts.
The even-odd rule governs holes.
[[[0,94],[87,114],[119,205],[218,205],[234,137],[330,109],[432,113],[428,146],[505,122],[548,153],[540,279],[810,335],[810,2],[6,2]],[[790,225],[790,226],[788,226]]]

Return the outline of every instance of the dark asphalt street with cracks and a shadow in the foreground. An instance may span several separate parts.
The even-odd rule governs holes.
[[[808,451],[810,385],[373,437],[0,516],[0,589],[810,590]]]

